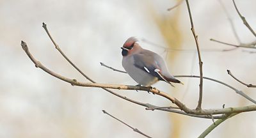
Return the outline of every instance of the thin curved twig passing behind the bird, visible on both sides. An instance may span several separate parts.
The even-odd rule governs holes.
[[[104,63],[101,63],[100,65],[105,66],[106,68],[110,68],[111,70],[114,70],[116,72],[127,73],[127,72],[124,72],[122,70],[116,70],[115,68],[113,68],[111,66],[107,66]],[[197,75],[173,75],[173,77],[195,77],[195,78],[200,78],[200,76],[197,76]],[[226,84],[225,82],[221,82],[221,81],[218,81],[216,79],[209,78],[209,77],[203,77],[203,79],[207,79],[209,81],[214,81],[214,82],[218,82],[220,84],[223,84],[224,86],[227,86],[228,88],[233,89],[237,94],[243,96],[247,100],[250,100],[250,102],[253,102],[254,104],[256,104],[256,101],[253,100],[252,98],[250,98],[250,96],[248,96],[245,93],[243,93],[243,91],[239,91],[238,89],[236,89],[236,88]]]

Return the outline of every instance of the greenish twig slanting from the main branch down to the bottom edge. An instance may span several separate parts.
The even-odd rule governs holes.
[[[204,130],[204,132],[198,137],[198,138],[203,138],[206,135],[208,135],[214,128],[218,127],[218,125],[220,125],[223,121],[225,121],[228,118],[231,118],[232,116],[236,116],[237,114],[239,114],[239,112],[236,113],[232,113],[232,114],[225,114],[223,116],[223,118],[218,119],[217,121],[215,121],[214,123],[212,123],[211,126],[209,126],[206,130]]]

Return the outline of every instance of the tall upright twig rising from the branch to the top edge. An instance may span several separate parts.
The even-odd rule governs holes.
[[[197,105],[196,109],[201,110],[202,109],[202,98],[203,98],[203,68],[202,68],[203,62],[202,62],[202,59],[201,59],[201,54],[200,54],[200,49],[199,49],[198,36],[195,33],[193,19],[192,19],[192,15],[191,15],[188,0],[186,0],[186,4],[187,4],[187,7],[188,7],[189,19],[190,19],[190,23],[191,23],[191,31],[192,31],[193,36],[195,38],[196,49],[197,49],[198,60],[199,60],[200,84],[199,84],[199,100],[198,100],[198,105]]]

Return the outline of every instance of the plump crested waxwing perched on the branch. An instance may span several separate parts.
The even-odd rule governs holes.
[[[138,39],[128,38],[121,49],[122,66],[138,86],[151,87],[157,81],[167,82],[171,86],[171,82],[183,84],[169,73],[163,57],[156,52],[143,49],[138,44]]]

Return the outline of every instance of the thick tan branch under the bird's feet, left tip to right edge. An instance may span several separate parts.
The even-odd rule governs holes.
[[[196,114],[196,115],[211,115],[211,114],[227,114],[227,113],[232,113],[232,112],[248,112],[248,111],[255,111],[256,110],[256,105],[250,105],[246,107],[229,107],[225,109],[204,109],[204,110],[196,110],[196,109],[189,109],[186,107],[186,105],[182,104],[179,100],[176,98],[167,95],[166,93],[159,91],[156,88],[148,88],[148,87],[143,87],[143,86],[126,86],[126,85],[118,85],[118,84],[97,84],[97,83],[89,83],[89,82],[78,82],[76,79],[68,79],[67,77],[63,77],[59,75],[58,73],[52,72],[48,68],[46,68],[42,63],[37,61],[29,52],[28,46],[25,42],[21,42],[22,49],[26,52],[28,57],[33,61],[35,66],[37,68],[41,68],[45,72],[49,73],[50,75],[61,79],[62,81],[68,82],[72,84],[72,86],[83,86],[83,87],[93,87],[93,88],[111,88],[111,89],[133,89],[133,90],[141,90],[141,91],[150,91],[156,95],[163,96],[164,98],[167,98],[168,100],[172,101],[173,104],[177,105],[180,110],[186,112],[187,114]],[[116,93],[113,93],[116,95]],[[120,96],[120,95],[116,95]],[[145,107],[148,107],[147,104],[141,104],[140,102],[136,102],[134,100],[131,100],[129,98],[126,98],[125,96],[120,96],[120,98],[123,98],[125,100],[129,100],[130,102],[133,102],[134,104],[140,104]],[[161,109],[163,111],[166,111],[166,109]],[[210,117],[211,118],[211,117]]]

